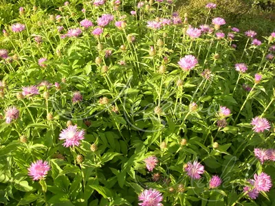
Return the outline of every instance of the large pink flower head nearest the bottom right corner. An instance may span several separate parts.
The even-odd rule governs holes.
[[[269,175],[262,172],[257,175],[254,174],[254,187],[257,191],[261,192],[269,192],[272,187],[272,180]]]

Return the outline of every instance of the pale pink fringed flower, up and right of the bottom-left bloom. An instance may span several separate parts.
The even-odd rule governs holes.
[[[68,126],[66,129],[61,131],[59,139],[65,139],[63,146],[68,148],[69,146],[79,146],[80,140],[84,139],[84,130],[78,130],[77,126]]]

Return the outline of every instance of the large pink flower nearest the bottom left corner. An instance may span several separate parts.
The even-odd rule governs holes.
[[[47,175],[47,172],[50,170],[50,165],[47,161],[38,160],[28,168],[29,175],[34,181],[44,179]]]

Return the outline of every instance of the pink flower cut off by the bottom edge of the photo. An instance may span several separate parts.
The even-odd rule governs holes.
[[[142,203],[138,203],[141,206],[162,206],[162,194],[157,190],[144,190],[139,196],[138,200]]]

